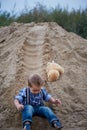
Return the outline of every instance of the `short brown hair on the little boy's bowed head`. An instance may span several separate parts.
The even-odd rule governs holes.
[[[39,87],[44,84],[44,81],[39,74],[33,74],[28,78],[28,86],[32,87],[32,84]]]

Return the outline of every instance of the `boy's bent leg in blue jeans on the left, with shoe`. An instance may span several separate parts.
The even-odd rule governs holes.
[[[30,130],[33,114],[34,109],[31,105],[26,105],[22,110],[22,124],[24,130]]]

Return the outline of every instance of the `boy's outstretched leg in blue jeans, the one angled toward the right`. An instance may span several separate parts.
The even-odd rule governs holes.
[[[46,107],[46,106],[39,107],[38,115],[46,117],[49,123],[53,127],[55,127],[54,123],[57,122],[57,125],[59,126],[59,128],[62,128],[62,124],[60,123],[58,117],[54,114],[54,112],[49,107]]]

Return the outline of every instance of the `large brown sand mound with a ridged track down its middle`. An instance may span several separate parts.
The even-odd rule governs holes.
[[[47,82],[46,64],[54,60],[65,69],[56,82]],[[27,77],[39,73],[46,88],[59,97],[61,106],[50,105],[64,130],[87,129],[87,40],[68,33],[56,23],[13,23],[0,28],[0,129],[21,130],[21,118],[13,96],[27,85]],[[38,124],[38,125],[37,125]],[[35,117],[32,129],[52,129]]]

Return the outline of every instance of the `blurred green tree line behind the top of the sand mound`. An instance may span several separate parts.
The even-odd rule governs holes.
[[[25,8],[20,15],[0,10],[0,27],[8,26],[12,22],[56,22],[67,31],[87,39],[87,8],[68,11],[68,8],[63,9],[59,5],[54,9],[47,9],[38,4],[32,10]]]

